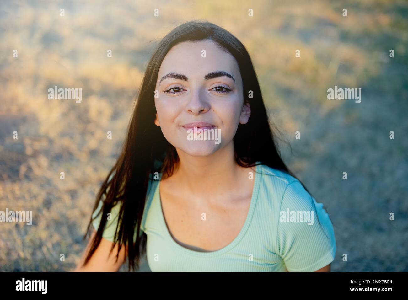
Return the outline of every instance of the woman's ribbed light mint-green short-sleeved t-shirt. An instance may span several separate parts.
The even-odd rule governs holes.
[[[244,226],[230,244],[211,252],[187,249],[173,240],[160,204],[160,180],[149,182],[141,229],[147,235],[151,271],[316,271],[330,264],[335,258],[336,241],[323,204],[316,202],[293,176],[266,165],[257,165],[255,170]],[[118,211],[119,204],[113,207],[112,220],[103,233],[103,238],[110,241]],[[93,222],[95,229],[100,218]]]

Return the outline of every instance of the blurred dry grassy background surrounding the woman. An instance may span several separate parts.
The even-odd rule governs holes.
[[[408,271],[407,17],[389,0],[1,1],[0,210],[33,224],[0,223],[0,271],[75,267],[151,53],[192,19],[248,49],[284,161],[333,221],[332,271]],[[55,85],[82,102],[49,100]],[[361,103],[328,100],[335,85],[361,88]]]

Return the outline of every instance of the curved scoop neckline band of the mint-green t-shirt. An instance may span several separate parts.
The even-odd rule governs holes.
[[[256,162],[258,163],[258,162]],[[210,251],[210,252],[201,252],[201,251],[195,251],[195,250],[191,250],[188,249],[182,245],[180,245],[179,243],[177,243],[173,237],[170,234],[169,229],[167,228],[167,224],[166,224],[166,220],[164,218],[164,213],[163,213],[163,209],[162,209],[162,201],[161,201],[161,197],[160,197],[160,180],[158,180],[157,185],[156,185],[156,189],[155,189],[155,195],[154,198],[157,199],[156,201],[156,205],[159,205],[159,214],[160,214],[160,223],[161,225],[164,227],[164,231],[166,234],[166,238],[168,240],[170,240],[171,244],[173,246],[175,246],[176,248],[191,254],[191,255],[195,255],[195,256],[217,256],[217,255],[221,255],[223,253],[226,253],[227,251],[233,249],[244,237],[246,231],[248,230],[249,225],[251,224],[251,220],[252,220],[252,216],[253,213],[255,211],[255,205],[257,202],[257,198],[258,198],[258,191],[259,191],[259,182],[260,182],[260,176],[261,176],[261,172],[260,172],[260,164],[257,164],[255,166],[255,182],[254,182],[254,186],[253,186],[253,190],[252,190],[252,196],[251,196],[251,203],[249,205],[249,209],[248,209],[248,213],[246,215],[246,219],[244,222],[244,225],[242,226],[241,230],[239,231],[238,235],[235,237],[235,239],[229,243],[228,245],[226,245],[225,247],[218,249],[216,251]],[[162,175],[162,174],[160,174]],[[161,176],[160,176],[161,178]]]

